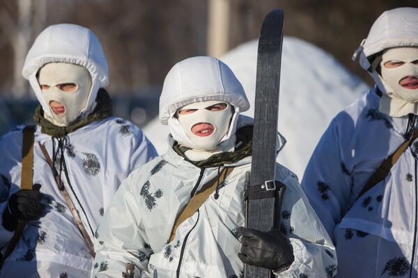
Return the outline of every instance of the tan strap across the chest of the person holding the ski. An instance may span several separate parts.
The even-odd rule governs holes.
[[[173,228],[171,229],[169,243],[173,241],[178,226],[180,226],[181,223],[183,223],[187,218],[192,216],[199,209],[199,207],[208,199],[213,190],[215,190],[217,185],[223,183],[226,177],[232,172],[232,170],[233,167],[224,167],[218,177],[208,181],[204,186],[202,186],[201,190],[199,190],[199,192],[189,200],[185,208],[183,208],[183,211],[178,213],[176,221],[174,221]]]

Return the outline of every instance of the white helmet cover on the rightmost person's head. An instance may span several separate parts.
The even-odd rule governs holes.
[[[418,47],[418,8],[396,8],[382,13],[353,55],[368,70],[369,57],[391,47]]]

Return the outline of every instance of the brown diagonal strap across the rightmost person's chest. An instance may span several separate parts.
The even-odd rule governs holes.
[[[376,172],[374,172],[369,180],[367,181],[366,185],[363,187],[362,191],[360,191],[359,195],[357,196],[357,199],[359,197],[362,197],[364,193],[369,191],[373,186],[376,186],[376,184],[379,183],[379,181],[382,181],[385,179],[387,174],[389,174],[391,168],[393,165],[395,165],[396,161],[401,157],[403,152],[408,148],[411,142],[414,142],[414,140],[418,137],[418,129],[414,130],[414,133],[412,133],[412,136],[405,140],[405,142],[402,143],[401,146],[396,149],[395,152],[393,152],[390,156],[388,156],[382,163],[380,163],[378,169],[376,169]]]

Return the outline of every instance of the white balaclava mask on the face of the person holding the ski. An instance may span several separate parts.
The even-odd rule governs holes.
[[[178,109],[178,122],[192,149],[212,151],[228,133],[233,110],[223,101],[199,101]],[[183,144],[184,145],[184,144]]]

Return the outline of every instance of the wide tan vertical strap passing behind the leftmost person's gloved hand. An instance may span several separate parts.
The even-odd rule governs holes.
[[[25,126],[23,129],[23,142],[22,142],[22,173],[20,176],[20,189],[32,189],[33,178],[33,138],[35,137],[35,126]],[[17,241],[22,236],[26,222],[17,223],[15,233],[10,239],[6,251],[0,261],[0,268],[3,266],[6,258],[13,252]]]

